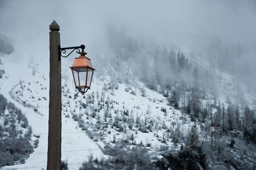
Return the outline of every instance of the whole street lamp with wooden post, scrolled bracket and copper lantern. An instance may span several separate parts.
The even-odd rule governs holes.
[[[61,57],[67,58],[76,50],[80,54],[70,67],[74,83],[80,93],[84,95],[91,87],[94,68],[84,45],[77,47],[60,46],[60,26],[54,20],[50,28],[50,86],[49,86],[49,133],[47,151],[47,170],[61,169]],[[80,50],[81,49],[81,50]],[[66,54],[66,50],[72,50]]]

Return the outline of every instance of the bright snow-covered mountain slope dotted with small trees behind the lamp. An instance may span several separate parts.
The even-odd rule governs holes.
[[[3,58],[6,73],[0,79],[0,93],[26,114],[33,135],[40,137],[38,148],[29,155],[25,164],[5,166],[2,169],[45,169],[49,114],[48,60],[24,58],[13,62],[12,57],[15,55],[17,54],[14,52]],[[180,110],[168,105],[162,94],[148,89],[140,81],[116,82],[116,87],[113,88],[111,77],[96,76],[93,77],[92,89],[83,96],[77,94],[68,66],[63,66],[62,70],[61,160],[67,160],[70,169],[79,169],[90,155],[93,158],[108,158],[102,151],[105,146],[115,147],[114,140],[143,143],[152,157],[157,157],[155,153],[159,153],[161,147],[171,150],[179,148],[180,143],[178,147],[174,146],[171,137],[168,137],[177,127],[186,135],[195,125],[188,115],[182,115]],[[225,100],[223,96],[220,98]],[[93,111],[97,112],[97,116],[92,116]],[[76,116],[79,120],[74,121]],[[111,126],[110,122],[115,121],[116,117],[124,130]],[[129,125],[123,118],[133,119],[131,128],[128,128]],[[145,125],[147,132],[142,132],[136,126],[137,120],[140,125]],[[134,139],[130,140],[132,135]]]

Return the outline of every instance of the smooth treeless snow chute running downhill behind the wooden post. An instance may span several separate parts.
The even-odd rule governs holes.
[[[15,55],[15,54],[13,54]],[[10,91],[13,87],[18,86],[22,80],[37,81],[38,74],[32,75],[32,68],[27,67],[28,61],[13,62],[12,55],[3,59],[5,68],[5,77],[1,79],[0,93],[10,102],[13,102],[26,115],[33,130],[33,135],[40,135],[38,148],[26,160],[25,164],[15,166],[6,166],[1,169],[42,169],[47,165],[47,144],[48,144],[48,101],[40,102],[38,112],[33,107],[24,107],[19,101],[13,100]],[[47,77],[47,76],[46,76]],[[42,82],[43,83],[43,82]],[[18,84],[18,85],[17,85]],[[48,87],[48,81],[45,81],[44,87]],[[40,89],[41,90],[41,89]],[[37,96],[46,96],[48,93],[38,90]],[[44,94],[42,94],[44,93]],[[17,94],[16,96],[17,97]],[[106,157],[102,154],[99,146],[95,144],[80,128],[77,128],[76,121],[62,117],[62,143],[61,143],[61,160],[67,160],[70,169],[78,169],[84,160],[92,154],[93,157]]]

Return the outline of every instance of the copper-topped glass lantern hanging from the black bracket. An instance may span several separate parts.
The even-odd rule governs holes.
[[[91,87],[93,71],[91,60],[85,55],[86,52],[80,52],[81,56],[75,58],[72,66],[72,74],[74,77],[75,86],[82,95]]]

